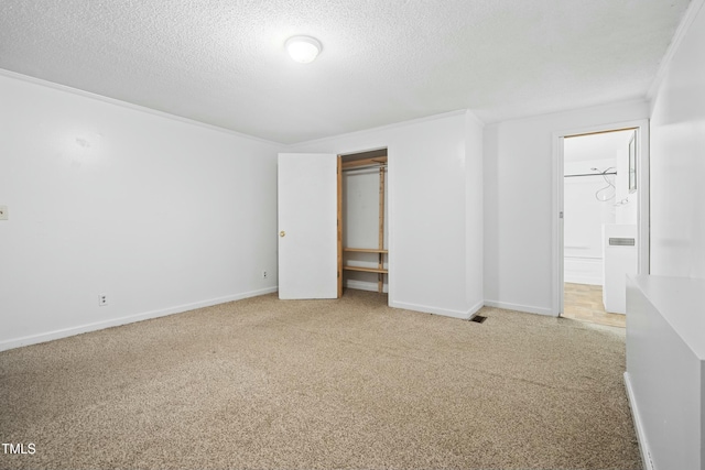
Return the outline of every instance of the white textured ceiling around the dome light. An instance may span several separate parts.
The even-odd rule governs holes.
[[[294,143],[643,97],[687,0],[2,0],[0,68]],[[308,65],[283,47],[317,37]]]

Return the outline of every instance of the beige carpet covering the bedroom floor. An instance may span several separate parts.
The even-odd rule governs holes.
[[[636,469],[623,330],[267,295],[0,353],[0,468]]]

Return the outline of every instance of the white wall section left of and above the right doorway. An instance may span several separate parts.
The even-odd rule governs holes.
[[[487,305],[557,315],[554,135],[647,116],[630,101],[485,127]]]

